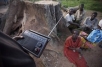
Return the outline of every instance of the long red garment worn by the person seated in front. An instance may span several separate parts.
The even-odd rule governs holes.
[[[81,46],[81,43],[80,37],[77,38],[76,42],[73,42],[72,36],[68,37],[64,45],[64,55],[70,62],[74,63],[76,67],[88,67],[84,57],[79,58],[79,52],[74,52],[73,50],[69,49],[69,47],[78,48]]]

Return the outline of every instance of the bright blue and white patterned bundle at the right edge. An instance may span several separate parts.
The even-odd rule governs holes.
[[[93,30],[87,37],[87,40],[92,43],[99,43],[102,41],[102,30]]]

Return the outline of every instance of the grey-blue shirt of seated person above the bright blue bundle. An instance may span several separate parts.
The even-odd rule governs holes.
[[[97,29],[98,20],[95,18],[91,21],[90,17],[86,17],[85,21],[83,22],[83,26],[88,27],[90,29]]]

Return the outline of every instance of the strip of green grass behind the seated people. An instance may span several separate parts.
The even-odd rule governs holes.
[[[60,0],[64,7],[74,7],[79,4],[85,4],[85,9],[102,12],[102,2],[99,0]]]

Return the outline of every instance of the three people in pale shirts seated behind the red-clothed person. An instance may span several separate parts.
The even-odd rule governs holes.
[[[97,12],[93,12],[90,17],[85,18],[84,4],[81,4],[76,12],[74,9],[69,10],[68,14],[65,16],[65,25],[70,31],[79,28],[89,34],[93,29],[98,28],[98,19],[96,17]],[[87,29],[89,29],[89,31],[87,31]]]

